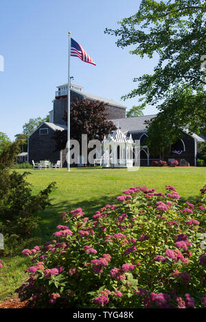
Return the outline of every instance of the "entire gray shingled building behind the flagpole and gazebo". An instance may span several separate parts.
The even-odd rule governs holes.
[[[30,163],[32,160],[34,162],[50,160],[52,163],[60,160],[61,166],[67,166],[66,149],[56,151],[55,142],[52,140],[52,136],[54,136],[54,132],[57,129],[64,130],[67,128],[65,121],[62,119],[67,110],[67,84],[57,86],[57,88],[53,109],[49,112],[49,122],[45,122],[38,127],[28,140],[28,160]],[[108,119],[113,121],[116,127],[126,136],[131,134],[133,140],[140,140],[142,147],[140,152],[141,166],[149,166],[152,165],[152,161],[159,160],[159,156],[150,155],[148,147],[144,145],[144,138],[148,136],[144,122],[155,117],[155,114],[126,118],[126,106],[112,99],[87,94],[82,92],[82,86],[71,84],[71,101],[76,98],[89,99],[89,101],[104,101],[108,104]],[[164,160],[172,162],[172,160],[185,159],[190,162],[190,165],[196,166],[197,143],[201,142],[205,142],[205,138],[183,132],[183,138],[168,149],[168,152],[164,155]]]

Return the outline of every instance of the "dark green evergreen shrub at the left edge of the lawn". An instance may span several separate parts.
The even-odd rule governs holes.
[[[22,238],[38,227],[36,212],[49,205],[49,194],[55,186],[52,182],[34,195],[25,179],[28,173],[10,170],[20,145],[18,140],[8,143],[0,153],[0,233],[4,236],[6,253],[11,253],[14,245],[20,245]]]

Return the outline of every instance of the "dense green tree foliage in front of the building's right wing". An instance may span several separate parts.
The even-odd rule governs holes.
[[[179,108],[181,106],[181,108]],[[178,87],[161,104],[155,119],[147,123],[150,151],[163,153],[166,147],[188,133],[206,133],[206,99],[203,92],[194,94],[191,88]],[[191,117],[193,114],[193,117]],[[201,120],[201,122],[200,122]]]

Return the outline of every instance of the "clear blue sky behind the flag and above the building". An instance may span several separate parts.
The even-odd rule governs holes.
[[[140,0],[10,0],[0,5],[0,132],[14,135],[30,118],[52,110],[56,86],[67,82],[68,31],[96,66],[71,57],[73,82],[83,91],[114,99],[128,108],[137,98],[121,101],[135,88],[134,77],[152,73],[157,62],[120,49],[104,29],[135,14]],[[157,110],[148,107],[144,114]]]

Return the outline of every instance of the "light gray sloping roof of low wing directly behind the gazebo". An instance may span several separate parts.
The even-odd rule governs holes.
[[[135,116],[135,117],[127,117],[126,119],[115,119],[110,120],[115,123],[116,127],[121,129],[121,131],[126,134],[126,132],[146,132],[146,124],[145,121],[150,121],[150,119],[154,118],[156,114],[152,115],[143,115],[143,116]]]

